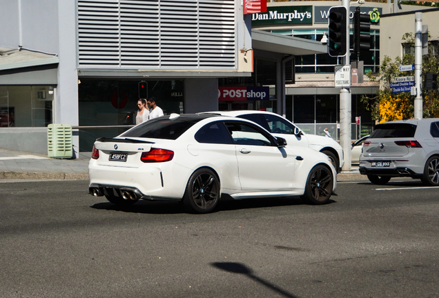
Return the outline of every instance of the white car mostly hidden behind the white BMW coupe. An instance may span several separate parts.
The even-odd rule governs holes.
[[[343,167],[343,148],[337,141],[330,137],[307,135],[291,121],[273,112],[237,110],[212,113],[253,121],[271,132],[275,137],[286,139],[286,142],[290,145],[308,147],[328,155],[337,172],[340,172]]]

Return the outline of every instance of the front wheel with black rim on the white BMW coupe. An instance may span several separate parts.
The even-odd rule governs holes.
[[[332,171],[323,165],[315,166],[309,172],[302,199],[306,199],[315,205],[322,205],[329,201],[332,195],[334,177]]]

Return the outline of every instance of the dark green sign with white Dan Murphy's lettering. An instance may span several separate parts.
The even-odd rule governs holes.
[[[267,8],[267,12],[252,14],[252,25],[281,23],[313,23],[312,6],[287,6]]]

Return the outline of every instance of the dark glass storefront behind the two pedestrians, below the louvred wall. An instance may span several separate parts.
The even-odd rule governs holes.
[[[148,97],[155,97],[165,115],[184,112],[183,81],[146,81]],[[135,124],[139,80],[81,79],[79,126],[121,126],[79,129],[79,151],[89,152],[98,137],[115,137]],[[126,128],[124,128],[126,126]]]

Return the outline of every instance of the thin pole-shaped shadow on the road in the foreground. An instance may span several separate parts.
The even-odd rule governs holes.
[[[211,263],[211,266],[219,270],[226,271],[228,273],[246,275],[246,277],[248,277],[249,279],[252,279],[257,283],[262,284],[266,288],[269,288],[274,292],[277,292],[277,294],[281,295],[282,297],[297,298],[297,296],[280,288],[280,286],[272,284],[270,281],[258,277],[257,275],[255,275],[253,270],[251,270],[251,268],[248,268],[244,264],[235,263],[235,262],[215,262],[215,263]]]

